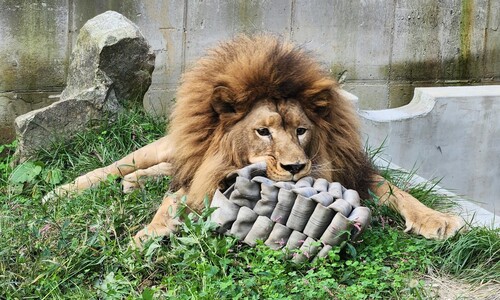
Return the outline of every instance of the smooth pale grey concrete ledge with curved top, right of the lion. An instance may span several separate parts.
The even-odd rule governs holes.
[[[500,215],[500,85],[417,88],[405,106],[359,114],[386,160]]]

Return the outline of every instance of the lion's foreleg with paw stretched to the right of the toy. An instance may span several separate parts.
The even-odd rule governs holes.
[[[412,231],[428,239],[446,239],[462,229],[463,220],[428,208],[410,194],[386,181],[382,176],[374,178],[372,191],[380,199],[403,216],[405,232]]]

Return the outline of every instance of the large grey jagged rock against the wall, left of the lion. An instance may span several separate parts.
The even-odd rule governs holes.
[[[126,102],[142,102],[155,55],[139,28],[107,11],[81,28],[59,101],[16,118],[18,157],[26,160],[84,129],[113,121]]]

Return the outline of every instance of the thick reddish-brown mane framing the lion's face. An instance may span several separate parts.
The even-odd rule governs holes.
[[[220,118],[213,108],[213,92],[219,86],[234,95],[229,118]],[[243,167],[224,139],[263,97],[299,100],[317,126],[308,153],[313,175],[339,181],[366,196],[373,169],[363,151],[352,104],[339,95],[337,83],[306,51],[267,35],[239,36],[220,44],[184,74],[170,121],[176,148],[172,187],[189,188],[197,173],[204,171],[200,168],[214,160],[219,164],[216,172],[205,174],[208,183],[202,187],[211,195],[228,172]]]

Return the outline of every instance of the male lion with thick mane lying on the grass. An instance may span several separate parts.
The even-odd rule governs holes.
[[[227,174],[266,161],[270,179],[311,175],[338,181],[369,197],[371,190],[406,220],[406,231],[447,238],[460,218],[427,208],[377,175],[364,153],[358,120],[339,87],[303,50],[266,35],[221,44],[184,74],[170,133],[119,161],[54,191],[80,191],[109,174],[124,176],[124,189],[151,175],[172,175],[171,188],[140,243],[175,229],[180,196],[193,210],[223,185]]]

